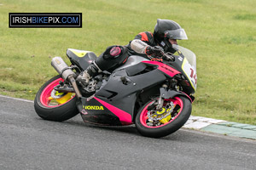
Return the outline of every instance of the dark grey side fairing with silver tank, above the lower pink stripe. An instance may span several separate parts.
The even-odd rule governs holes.
[[[154,87],[157,87],[156,93],[159,93],[158,86],[166,80],[165,74],[157,69],[157,65],[143,63],[144,60],[148,59],[131,55],[125,65],[113,71],[108,82],[102,84],[95,97],[131,114],[134,118],[137,94],[146,91],[149,93],[148,90],[151,91]],[[125,82],[122,79],[125,79]]]

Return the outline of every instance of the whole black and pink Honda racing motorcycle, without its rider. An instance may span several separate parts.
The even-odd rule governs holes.
[[[196,58],[187,48],[161,59],[130,56],[124,65],[101,72],[84,87],[75,78],[96,59],[90,51],[67,49],[68,66],[61,57],[51,65],[59,73],[38,90],[38,116],[62,122],[80,113],[84,122],[131,125],[143,136],[160,138],[187,122],[196,89]]]

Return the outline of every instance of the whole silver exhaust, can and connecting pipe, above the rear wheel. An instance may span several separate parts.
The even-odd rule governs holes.
[[[68,80],[72,83],[76,96],[78,98],[81,98],[82,94],[80,93],[77,82],[74,79],[74,77],[76,77],[76,74],[71,70],[70,67],[68,67],[65,61],[61,59],[61,57],[55,57],[51,60],[51,65],[55,68],[55,70],[61,75],[61,77],[64,80]]]

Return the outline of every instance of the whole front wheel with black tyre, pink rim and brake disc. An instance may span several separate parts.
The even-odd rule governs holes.
[[[137,130],[143,136],[164,137],[176,132],[188,121],[192,111],[192,105],[188,98],[177,96],[173,99],[165,99],[160,111],[156,111],[151,106],[154,101],[150,100],[143,105],[135,119]]]

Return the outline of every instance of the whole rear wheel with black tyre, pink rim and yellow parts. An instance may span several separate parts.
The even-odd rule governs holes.
[[[51,78],[38,90],[34,101],[38,116],[49,121],[66,121],[76,116],[79,111],[76,106],[77,98],[74,93],[59,93],[55,86],[63,81],[60,75]]]

